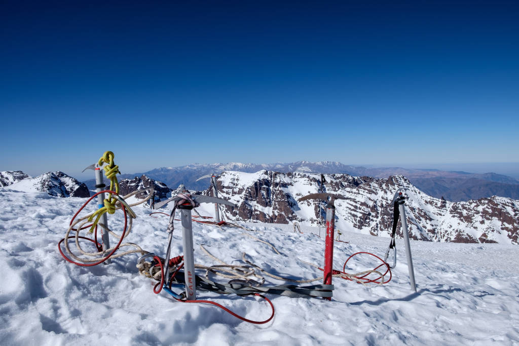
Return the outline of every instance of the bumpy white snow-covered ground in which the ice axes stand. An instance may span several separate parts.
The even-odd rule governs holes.
[[[58,253],[71,216],[85,199],[54,198],[47,193],[0,191],[0,344],[519,344],[519,247],[508,244],[457,244],[412,241],[418,292],[409,289],[402,240],[398,264],[384,286],[363,286],[334,278],[332,301],[268,295],[274,320],[263,325],[242,322],[209,305],[173,301],[155,295],[155,281],[138,274],[138,255],[111,265],[78,267]],[[96,203],[88,206],[93,211]],[[200,209],[208,214],[212,206]],[[127,240],[163,256],[168,218],[149,217],[136,206],[138,218]],[[121,212],[108,222],[118,231]],[[195,260],[215,265],[199,244],[225,262],[254,263],[281,276],[309,279],[322,272],[324,239],[316,227],[245,224],[252,234],[274,245],[282,255],[243,234],[242,229],[194,223]],[[172,254],[182,253],[180,224],[175,224]],[[83,231],[86,235],[86,231]],[[334,268],[349,255],[367,251],[383,256],[388,238],[343,231],[335,243]],[[324,233],[321,230],[321,233]],[[73,247],[74,248],[74,247]],[[372,257],[348,262],[349,271],[372,269]],[[225,282],[223,279],[216,281]],[[268,284],[283,282],[269,279]],[[316,282],[319,283],[319,282]],[[270,308],[251,297],[198,293],[252,320],[265,320]]]

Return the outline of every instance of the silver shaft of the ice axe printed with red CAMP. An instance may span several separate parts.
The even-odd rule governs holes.
[[[184,279],[186,281],[187,300],[196,300],[195,254],[193,248],[193,224],[191,209],[193,206],[179,205],[182,219],[182,246],[184,248]]]

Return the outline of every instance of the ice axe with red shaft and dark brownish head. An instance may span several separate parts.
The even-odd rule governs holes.
[[[332,193],[311,193],[310,195],[299,198],[297,201],[307,201],[310,199],[317,199],[322,201],[328,201],[326,205],[326,240],[324,242],[324,278],[323,284],[332,284],[332,271],[333,271],[333,238],[335,231],[335,205],[336,199],[350,199],[344,196],[333,195]],[[324,299],[331,300],[331,297],[325,297]]]

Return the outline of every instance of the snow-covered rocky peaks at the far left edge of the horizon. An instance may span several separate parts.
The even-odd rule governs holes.
[[[63,172],[47,172],[30,177],[21,171],[0,172],[4,188],[23,192],[47,192],[56,197],[90,197],[84,183]]]

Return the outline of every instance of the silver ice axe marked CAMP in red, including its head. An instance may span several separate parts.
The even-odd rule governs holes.
[[[195,206],[200,205],[201,203],[219,203],[236,207],[237,205],[226,201],[221,198],[216,198],[212,196],[203,196],[203,195],[191,195],[190,198],[195,201]],[[155,209],[160,208],[162,205],[165,205],[169,202],[175,202],[176,207],[181,210],[181,220],[182,220],[182,246],[184,251],[184,280],[186,287],[186,296],[187,300],[196,300],[196,282],[195,282],[195,255],[194,255],[194,246],[193,246],[193,223],[191,220],[191,210],[193,210],[193,205],[191,203],[183,203],[176,204],[177,202],[183,200],[184,198],[176,196],[172,197],[166,201],[162,201],[155,204]],[[174,215],[173,215],[174,216]],[[170,257],[170,248],[171,248],[171,233],[168,239],[168,249],[166,251],[166,259],[164,261],[166,266],[165,273],[165,282],[168,282],[169,278],[169,257]]]

